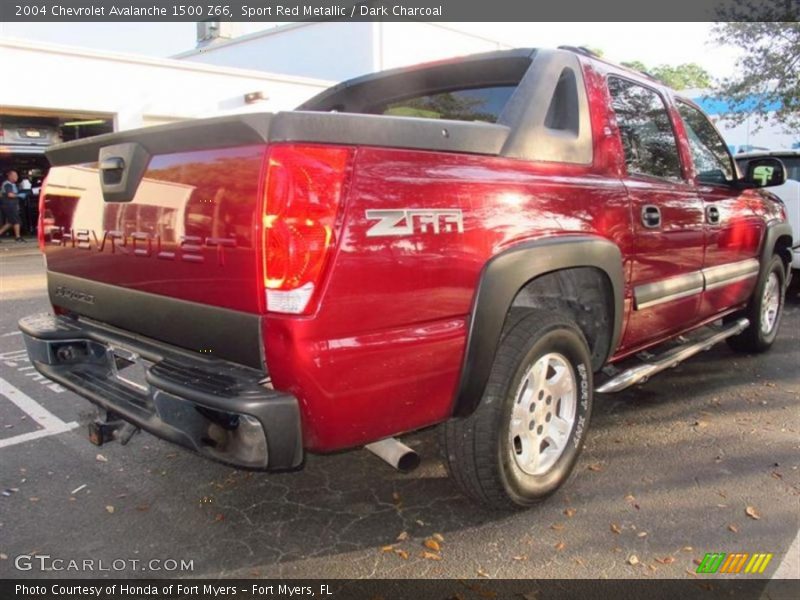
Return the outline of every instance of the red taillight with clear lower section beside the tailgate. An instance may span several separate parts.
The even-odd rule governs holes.
[[[264,288],[267,310],[308,314],[336,242],[353,150],[277,145],[267,155]]]

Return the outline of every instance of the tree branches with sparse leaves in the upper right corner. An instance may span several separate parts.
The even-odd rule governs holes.
[[[795,15],[797,17],[798,15]],[[728,101],[725,118],[734,124],[753,116],[757,125],[800,128],[800,23],[725,22],[714,26],[718,44],[741,48],[736,73],[715,93]]]

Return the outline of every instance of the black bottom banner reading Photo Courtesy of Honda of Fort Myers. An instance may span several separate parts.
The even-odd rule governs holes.
[[[800,580],[691,579],[61,579],[0,580],[2,600],[796,600]]]

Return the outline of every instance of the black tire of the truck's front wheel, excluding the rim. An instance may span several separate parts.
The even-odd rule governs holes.
[[[774,324],[769,331],[765,331],[762,327],[762,314],[765,308],[765,295],[764,292],[767,286],[770,285],[772,275],[775,275],[778,280],[778,310],[775,316]],[[739,335],[729,337],[728,345],[736,352],[743,352],[748,354],[766,352],[772,347],[775,338],[778,337],[778,330],[781,326],[781,316],[783,314],[783,305],[785,302],[786,294],[786,271],[783,261],[779,256],[773,256],[767,264],[767,268],[759,277],[756,289],[750,299],[750,303],[743,311],[725,318],[725,322],[729,323],[741,317],[747,317],[750,325]]]

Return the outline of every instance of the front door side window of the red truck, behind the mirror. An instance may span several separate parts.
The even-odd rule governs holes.
[[[733,163],[728,147],[706,116],[684,102],[678,102],[678,113],[686,128],[697,180],[704,183],[733,181]]]

